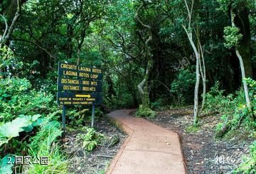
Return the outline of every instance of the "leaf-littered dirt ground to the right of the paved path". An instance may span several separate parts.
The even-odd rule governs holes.
[[[202,118],[198,131],[186,131],[193,123],[191,107],[159,111],[155,119],[148,120],[181,136],[188,173],[231,173],[242,157],[249,154],[253,141],[242,129],[215,139],[215,126],[220,122],[218,114]]]

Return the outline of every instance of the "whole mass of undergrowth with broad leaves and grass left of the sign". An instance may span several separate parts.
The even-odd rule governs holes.
[[[14,167],[19,173],[68,172],[57,143],[61,111],[54,102],[52,94],[32,89],[26,79],[0,80],[0,174],[12,173]],[[7,164],[9,156],[48,156],[49,165],[14,166]]]

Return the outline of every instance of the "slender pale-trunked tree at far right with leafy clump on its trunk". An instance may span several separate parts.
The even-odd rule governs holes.
[[[250,60],[250,22],[248,17],[249,13],[247,11],[247,6],[250,5],[250,3],[253,4],[253,2],[245,0],[219,1],[224,10],[229,9],[230,11],[231,26],[225,27],[224,30],[226,40],[225,45],[227,48],[235,47],[235,53],[238,56],[238,60],[240,62],[240,70],[242,74],[242,84],[245,92],[245,100],[247,108],[250,109],[250,97],[248,87],[245,82],[245,78],[252,75],[252,64]],[[241,13],[241,11],[243,11],[244,13]],[[240,16],[241,14],[243,15],[244,18]],[[240,27],[242,28],[238,28],[238,26],[235,23],[235,19],[239,21]]]

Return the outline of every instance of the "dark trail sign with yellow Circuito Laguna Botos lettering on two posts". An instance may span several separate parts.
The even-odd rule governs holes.
[[[92,105],[91,126],[93,127],[95,105],[102,104],[102,70],[59,62],[57,103],[63,106],[63,135],[65,135],[66,106]]]

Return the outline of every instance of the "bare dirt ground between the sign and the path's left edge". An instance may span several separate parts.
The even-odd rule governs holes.
[[[65,152],[70,156],[70,173],[104,173],[126,138],[126,135],[111,124],[106,116],[95,121],[95,129],[107,137],[118,136],[119,142],[114,146],[97,146],[89,153],[82,148],[82,142],[77,141],[76,138],[78,134],[84,132],[81,130],[70,131],[65,136],[63,145]]]

